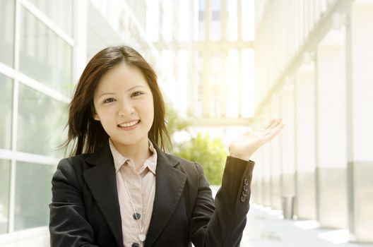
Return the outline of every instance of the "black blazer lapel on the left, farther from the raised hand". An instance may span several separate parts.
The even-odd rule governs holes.
[[[123,246],[122,219],[120,216],[117,181],[109,142],[101,150],[88,156],[86,161],[94,167],[83,172],[85,182],[105,217],[118,246]]]

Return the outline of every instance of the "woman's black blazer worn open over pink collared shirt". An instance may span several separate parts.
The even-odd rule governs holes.
[[[239,246],[254,162],[227,157],[215,197],[200,164],[157,150],[155,199],[145,246]],[[109,143],[92,155],[61,159],[49,205],[51,246],[123,246]]]

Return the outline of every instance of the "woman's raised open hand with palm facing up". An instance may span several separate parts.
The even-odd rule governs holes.
[[[230,143],[230,156],[249,160],[259,147],[278,135],[284,126],[283,119],[272,119],[267,126],[259,131],[244,133]]]

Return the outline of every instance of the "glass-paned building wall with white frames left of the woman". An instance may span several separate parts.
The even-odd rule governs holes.
[[[66,136],[76,77],[73,9],[72,1],[0,1],[1,246],[21,235],[20,244],[47,241],[50,180],[63,155],[54,147]]]

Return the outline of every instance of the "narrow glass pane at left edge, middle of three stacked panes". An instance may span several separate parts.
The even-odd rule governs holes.
[[[11,78],[0,74],[0,148],[2,149],[11,149],[12,95]]]

